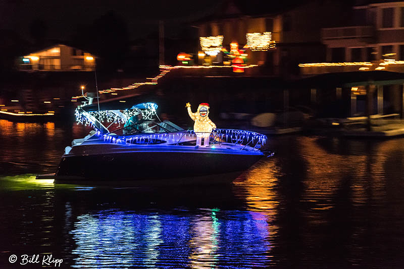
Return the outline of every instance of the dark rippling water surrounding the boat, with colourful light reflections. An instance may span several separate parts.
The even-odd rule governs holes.
[[[228,187],[34,180],[86,131],[0,120],[0,268],[404,267],[402,138],[270,138],[276,155]]]

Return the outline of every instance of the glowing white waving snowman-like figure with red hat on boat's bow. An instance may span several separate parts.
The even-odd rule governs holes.
[[[189,117],[195,121],[193,131],[196,133],[196,146],[201,146],[202,138],[204,138],[204,147],[209,146],[209,137],[216,124],[209,118],[209,104],[201,103],[195,113],[191,110],[191,104],[186,103]]]

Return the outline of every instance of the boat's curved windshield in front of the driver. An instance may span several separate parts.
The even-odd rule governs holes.
[[[111,132],[121,131],[123,135],[131,135],[137,133],[164,133],[164,132],[178,132],[185,131],[185,129],[172,123],[171,121],[151,121],[144,120],[133,124],[125,124],[125,126],[118,128]]]

